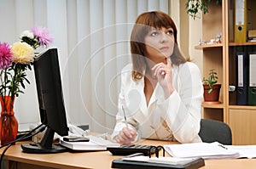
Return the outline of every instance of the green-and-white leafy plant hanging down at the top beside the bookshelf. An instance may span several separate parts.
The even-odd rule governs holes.
[[[208,3],[213,0],[187,0],[185,3],[185,8],[187,9],[187,13],[191,16],[194,20],[195,18],[200,17],[200,11],[202,14],[208,13]],[[221,4],[222,0],[215,0],[216,4]]]

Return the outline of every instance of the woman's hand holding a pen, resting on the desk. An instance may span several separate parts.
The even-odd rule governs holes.
[[[131,144],[137,137],[137,132],[131,128],[123,127],[117,136],[114,137],[119,144]]]

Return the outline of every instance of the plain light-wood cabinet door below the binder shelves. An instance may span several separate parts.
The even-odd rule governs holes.
[[[230,110],[233,144],[256,144],[256,110]]]

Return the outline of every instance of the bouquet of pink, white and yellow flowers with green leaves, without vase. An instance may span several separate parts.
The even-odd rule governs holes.
[[[0,96],[11,96],[14,101],[19,93],[24,93],[20,87],[25,89],[25,82],[30,84],[26,78],[26,70],[32,70],[31,65],[35,58],[35,49],[48,47],[53,41],[49,31],[39,26],[32,27],[31,31],[23,31],[20,42],[10,46],[7,42],[0,42]]]

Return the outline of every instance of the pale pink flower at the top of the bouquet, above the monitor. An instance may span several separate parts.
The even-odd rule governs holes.
[[[39,45],[48,47],[50,42],[53,42],[53,37],[50,37],[49,31],[45,27],[35,25],[32,27],[32,33],[38,37]]]

